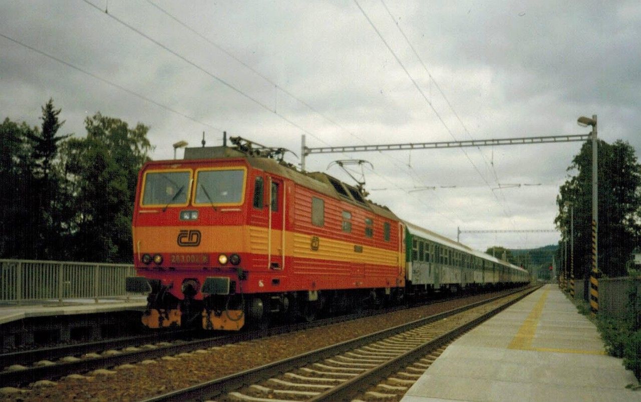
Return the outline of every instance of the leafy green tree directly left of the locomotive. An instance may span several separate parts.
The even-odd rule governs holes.
[[[131,216],[137,174],[152,147],[149,127],[96,113],[87,137],[65,144],[65,171],[76,202],[72,232],[81,260],[131,262]]]

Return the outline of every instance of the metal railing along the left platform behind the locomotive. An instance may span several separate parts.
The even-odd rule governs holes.
[[[129,264],[1,260],[0,302],[95,299],[128,296],[125,278],[135,276]]]

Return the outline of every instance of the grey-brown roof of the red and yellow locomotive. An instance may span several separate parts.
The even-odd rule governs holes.
[[[354,199],[354,197],[350,194],[348,194],[347,196],[340,195],[332,185],[330,180],[340,183],[347,189],[347,193],[350,192],[349,188],[351,188],[352,190],[356,190],[356,188],[334,178],[333,176],[329,176],[329,174],[323,172],[301,172],[297,170],[293,165],[281,163],[272,158],[248,156],[246,153],[238,151],[237,149],[234,149],[232,147],[222,146],[185,148],[185,160],[212,160],[219,158],[238,158],[239,160],[246,160],[249,165],[256,169],[288,178],[292,181],[295,181],[297,184],[306,188],[310,188],[310,190],[314,190],[316,192],[319,192],[320,194],[324,194],[340,201],[346,201],[355,206],[358,206],[359,208],[369,209],[374,214],[386,217],[388,219],[400,221],[399,217],[397,217],[387,207],[372,203],[372,201],[365,199],[365,197],[363,197],[363,202],[360,202]]]

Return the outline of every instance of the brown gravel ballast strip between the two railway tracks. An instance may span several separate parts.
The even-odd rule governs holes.
[[[30,385],[4,394],[0,401],[138,401],[228,374],[353,339],[374,331],[438,314],[504,292],[483,294],[310,330],[181,353],[138,364],[106,367]]]

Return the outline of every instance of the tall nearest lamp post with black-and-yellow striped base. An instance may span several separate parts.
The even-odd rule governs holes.
[[[597,169],[597,115],[589,117],[581,116],[576,121],[579,126],[592,126],[590,138],[592,139],[592,271],[590,271],[590,310],[592,314],[599,311],[599,181]]]

